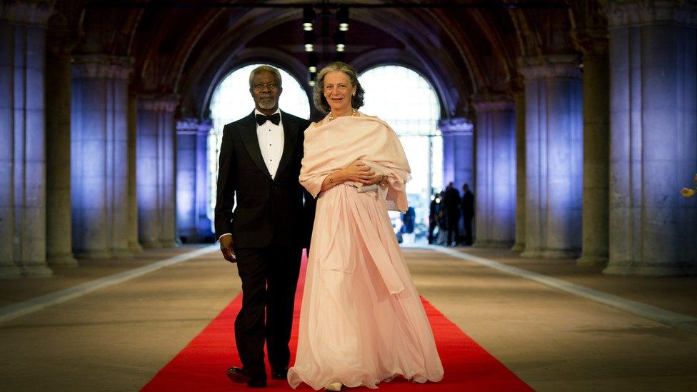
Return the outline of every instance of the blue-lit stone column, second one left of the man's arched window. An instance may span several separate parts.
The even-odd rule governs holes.
[[[144,248],[175,246],[174,96],[138,101],[136,189],[138,236]]]

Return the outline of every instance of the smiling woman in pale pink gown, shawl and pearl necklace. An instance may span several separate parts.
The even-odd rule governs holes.
[[[388,208],[406,211],[409,164],[380,119],[356,111],[356,71],[318,74],[315,106],[329,114],[305,131],[301,184],[317,197],[300,314],[293,388],[377,388],[401,375],[440,381],[431,326],[396,242]]]

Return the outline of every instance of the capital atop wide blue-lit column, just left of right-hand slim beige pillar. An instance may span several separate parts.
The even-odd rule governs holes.
[[[578,54],[556,54],[548,56],[521,57],[518,72],[526,80],[566,78],[581,79],[581,63]]]

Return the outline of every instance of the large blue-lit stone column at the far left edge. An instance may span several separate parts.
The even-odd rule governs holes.
[[[0,4],[0,278],[52,273],[44,117],[49,3]]]

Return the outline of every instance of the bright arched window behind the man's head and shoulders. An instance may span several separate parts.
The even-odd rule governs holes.
[[[211,119],[213,128],[209,135],[209,176],[210,176],[210,202],[208,215],[211,221],[214,218],[216,206],[216,181],[218,179],[218,156],[220,144],[223,140],[223,128],[225,124],[239,120],[254,110],[254,99],[249,93],[249,74],[252,69],[262,64],[251,64],[228,74],[216,87],[211,99]],[[283,92],[279,98],[281,110],[305,119],[310,118],[310,104],[305,90],[299,82],[284,69],[279,69],[283,81]]]

